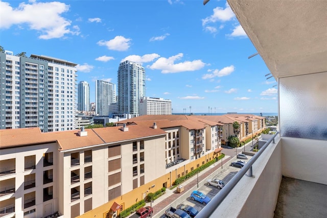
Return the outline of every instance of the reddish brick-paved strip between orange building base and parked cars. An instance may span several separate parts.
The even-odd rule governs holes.
[[[232,157],[230,156],[225,156],[222,160],[222,164],[226,164]],[[213,164],[212,166],[207,167],[206,169],[202,170],[199,172],[199,183],[200,181],[206,179],[208,176],[210,176],[212,173],[214,173],[216,170],[221,168],[221,160]],[[193,188],[195,185],[197,185],[197,176],[193,176],[192,178],[186,180],[185,182],[181,183],[184,187],[184,190],[189,190]],[[178,193],[176,191],[176,188],[174,190],[170,190],[169,188],[166,189],[166,194],[160,196],[158,199],[156,199],[152,203],[152,208],[153,208],[153,215],[152,216],[158,216],[162,214],[157,214],[161,210],[165,209],[167,206],[171,205],[172,202],[174,202],[176,199],[178,199],[182,193]],[[146,206],[150,206],[150,203],[146,203]]]

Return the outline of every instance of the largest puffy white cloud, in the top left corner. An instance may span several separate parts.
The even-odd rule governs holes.
[[[12,8],[9,3],[0,1],[0,29],[26,24],[29,29],[41,34],[40,39],[61,38],[66,34],[79,35],[79,28],[75,26],[69,29],[72,21],[61,16],[68,10],[69,5],[60,2],[30,1]]]

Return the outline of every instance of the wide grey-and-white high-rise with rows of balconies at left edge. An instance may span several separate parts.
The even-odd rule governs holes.
[[[76,63],[0,52],[0,128],[75,129]]]

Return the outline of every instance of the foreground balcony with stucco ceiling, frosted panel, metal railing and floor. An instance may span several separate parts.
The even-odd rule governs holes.
[[[327,2],[227,1],[277,80],[280,133],[197,216],[326,217]]]

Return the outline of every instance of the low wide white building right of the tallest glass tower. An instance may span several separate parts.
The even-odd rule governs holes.
[[[171,114],[172,101],[169,99],[142,97],[139,100],[139,116]]]

